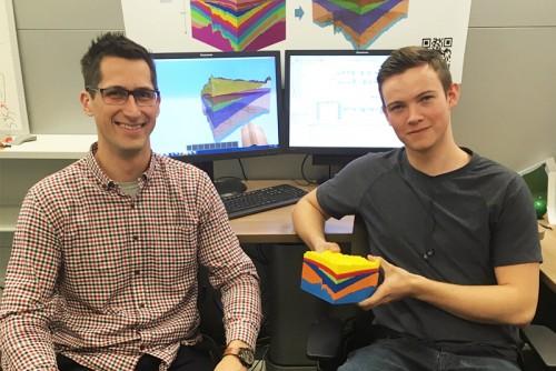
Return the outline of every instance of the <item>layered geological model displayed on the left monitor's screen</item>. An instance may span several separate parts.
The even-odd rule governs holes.
[[[239,127],[269,112],[270,83],[270,78],[265,81],[209,78],[201,99],[215,141],[220,142]]]

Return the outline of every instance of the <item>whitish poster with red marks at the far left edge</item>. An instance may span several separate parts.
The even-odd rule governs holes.
[[[0,133],[27,133],[29,123],[11,0],[0,3]]]

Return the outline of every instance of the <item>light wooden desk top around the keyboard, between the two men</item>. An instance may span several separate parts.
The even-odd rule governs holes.
[[[251,180],[247,182],[248,190],[264,187],[289,183],[307,190],[315,187],[301,187],[288,180]],[[256,214],[232,219],[231,229],[241,243],[302,243],[294,231],[291,212],[294,205],[274,209]],[[354,230],[354,217],[345,217],[341,220],[329,219],[325,225],[325,232],[330,241],[349,242]]]

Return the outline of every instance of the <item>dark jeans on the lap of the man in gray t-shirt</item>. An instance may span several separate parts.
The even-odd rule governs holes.
[[[349,353],[338,371],[519,371],[517,363],[497,357],[458,355],[418,339],[381,339]]]

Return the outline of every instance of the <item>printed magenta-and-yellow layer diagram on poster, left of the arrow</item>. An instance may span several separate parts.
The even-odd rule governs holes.
[[[286,40],[286,0],[191,0],[192,37],[222,51]]]

